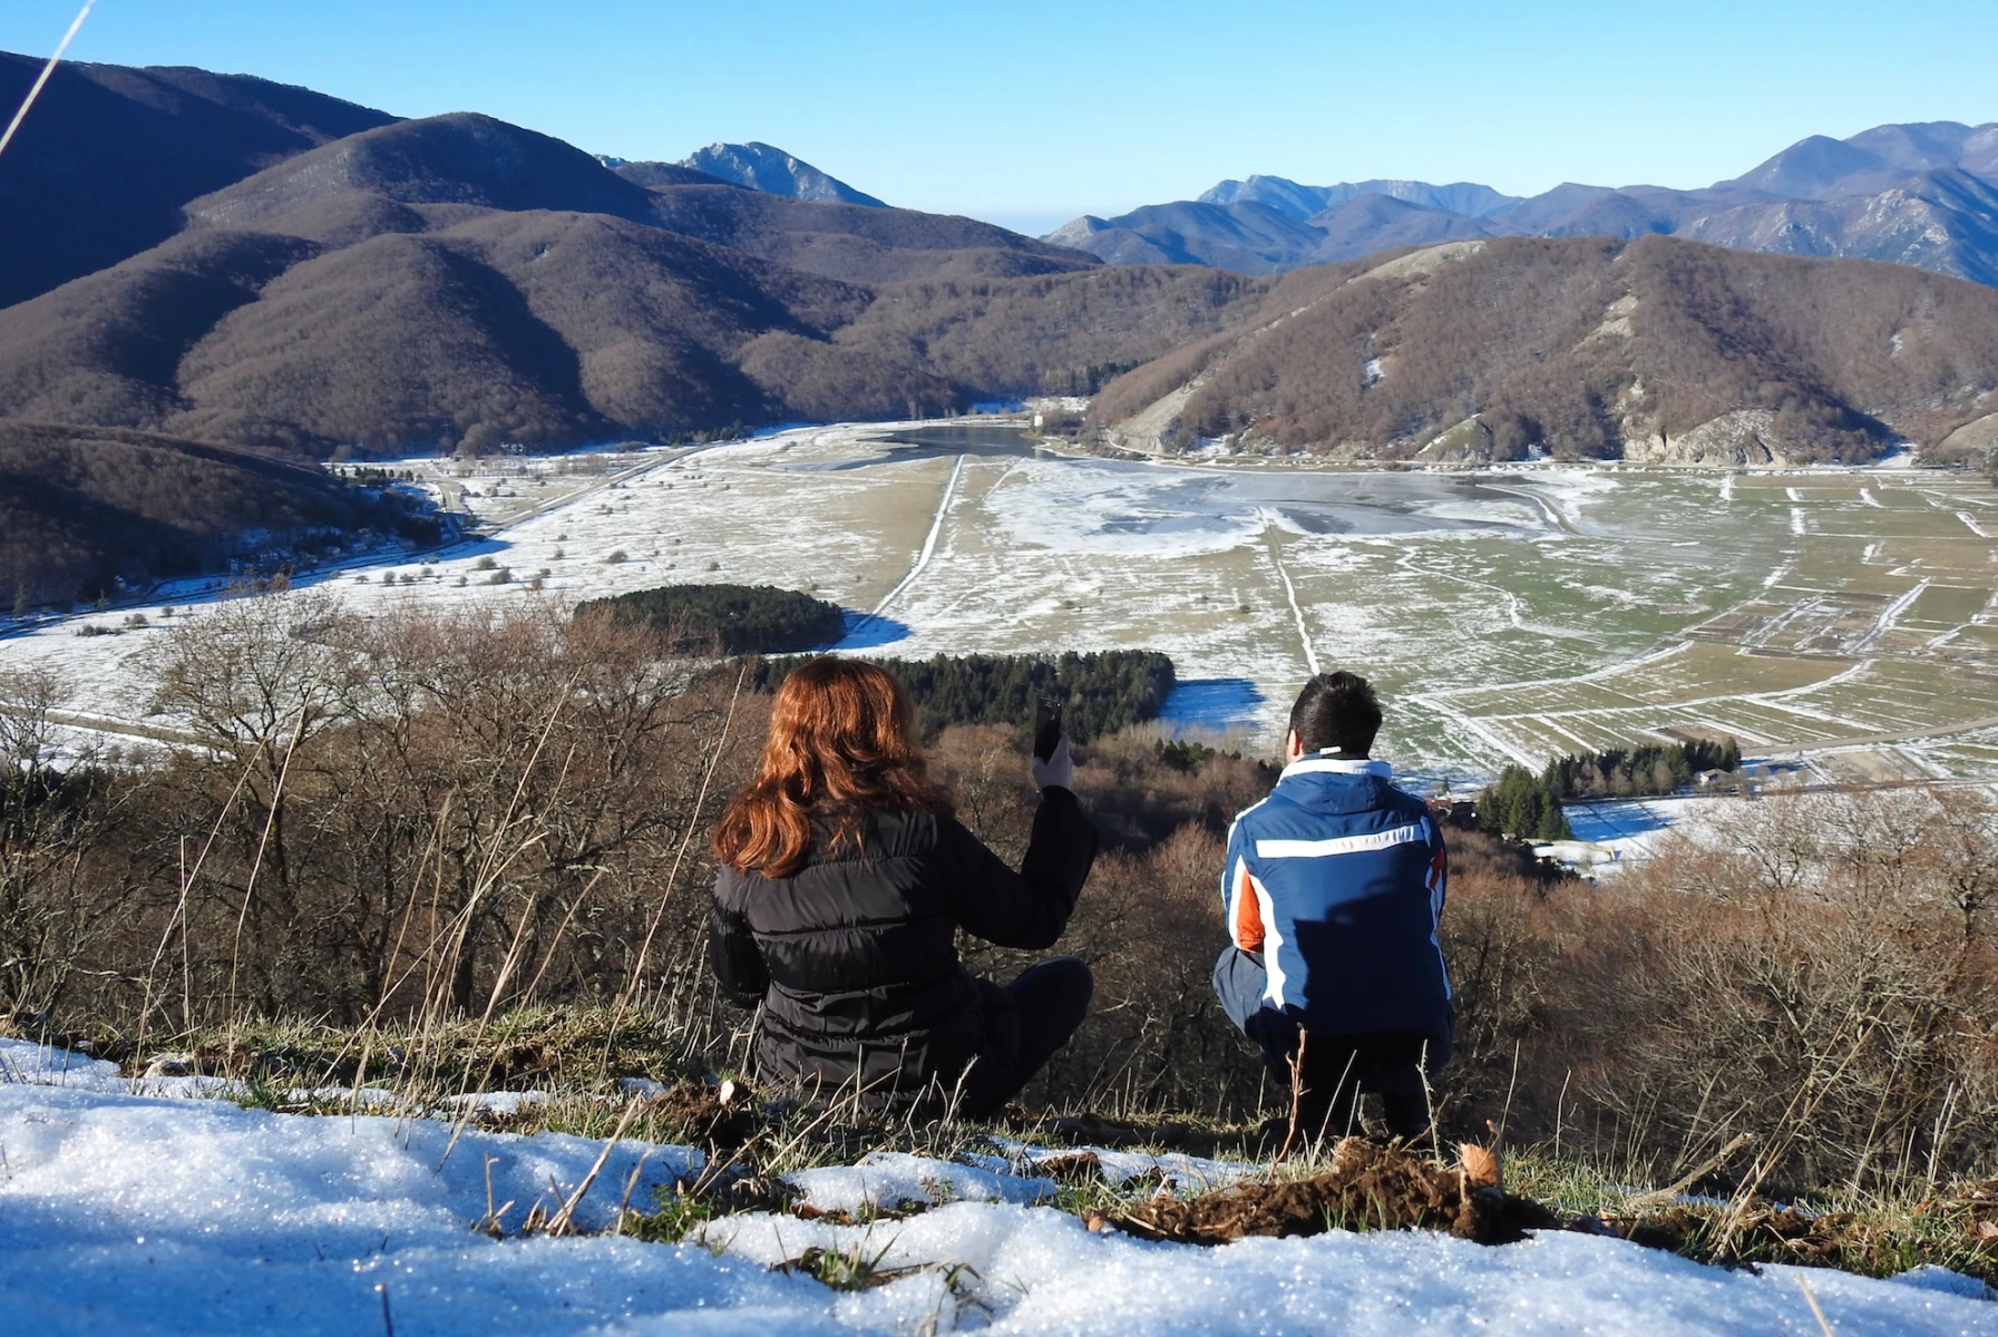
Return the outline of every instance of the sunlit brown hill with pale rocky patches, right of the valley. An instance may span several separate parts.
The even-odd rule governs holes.
[[[1111,382],[1095,424],[1115,442],[1177,390],[1147,444],[1794,464],[1934,444],[1998,410],[1998,290],[1906,266],[1498,238],[1329,290],[1303,270],[1265,306],[1287,314]]]

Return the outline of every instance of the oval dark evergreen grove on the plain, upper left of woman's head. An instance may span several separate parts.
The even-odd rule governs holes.
[[[643,626],[669,650],[691,654],[719,646],[721,654],[787,654],[831,646],[847,630],[837,604],[777,586],[661,586],[575,606],[575,616],[609,616],[617,626]]]

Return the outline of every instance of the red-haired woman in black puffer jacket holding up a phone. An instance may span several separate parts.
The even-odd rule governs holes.
[[[957,959],[957,929],[1053,945],[1097,833],[1061,739],[1015,873],[951,815],[901,683],[821,656],[777,689],[755,779],[715,829],[709,957],[723,993],[763,1007],[763,1081],[871,1107],[997,1113],[1069,1041],[1089,967],[1053,957],[1001,987]]]

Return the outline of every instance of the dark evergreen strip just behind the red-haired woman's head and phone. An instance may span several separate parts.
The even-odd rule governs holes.
[[[755,683],[775,691],[803,660],[763,660]],[[949,723],[1033,723],[1035,701],[1063,701],[1063,729],[1075,741],[1157,719],[1173,691],[1173,662],[1157,650],[1101,654],[937,656],[875,660],[901,679],[931,727]]]

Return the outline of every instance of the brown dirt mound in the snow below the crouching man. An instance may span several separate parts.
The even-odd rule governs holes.
[[[1319,1235],[1329,1229],[1439,1229],[1485,1245],[1512,1243],[1560,1219],[1524,1197],[1477,1185],[1401,1147],[1347,1137],[1321,1175],[1237,1183],[1193,1199],[1155,1197],[1117,1217],[1147,1239],[1219,1245],[1243,1235]]]

